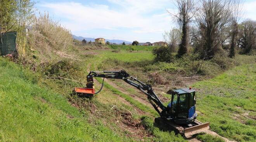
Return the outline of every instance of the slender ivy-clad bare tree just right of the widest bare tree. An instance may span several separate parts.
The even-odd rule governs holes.
[[[238,34],[238,21],[242,15],[242,2],[241,0],[234,0],[234,7],[232,12],[232,32],[231,32],[231,45],[229,57],[235,56],[235,49],[237,48],[237,34]]]

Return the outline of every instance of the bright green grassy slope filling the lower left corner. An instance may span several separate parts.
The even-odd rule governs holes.
[[[28,70],[0,58],[0,141],[130,141],[87,122],[66,98],[40,88]]]

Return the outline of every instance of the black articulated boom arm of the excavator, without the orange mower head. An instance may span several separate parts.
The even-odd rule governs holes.
[[[166,106],[163,105],[161,100],[159,100],[157,95],[154,93],[154,91],[152,90],[152,86],[147,85],[147,84],[139,81],[138,79],[130,76],[130,74],[126,73],[125,70],[121,70],[121,71],[90,71],[90,73],[87,75],[87,84],[86,84],[87,88],[93,88],[93,77],[123,79],[126,83],[130,84],[131,86],[134,86],[138,90],[142,91],[142,93],[147,95],[147,99],[149,100],[151,105],[155,108],[155,110],[159,113],[159,115],[161,117],[164,117],[167,115]],[[103,83],[102,83],[102,85],[103,85]],[[161,108],[162,111],[160,112],[158,108]]]

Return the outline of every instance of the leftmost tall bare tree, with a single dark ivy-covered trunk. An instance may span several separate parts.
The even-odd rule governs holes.
[[[182,29],[181,43],[177,54],[178,57],[181,57],[187,53],[189,23],[195,14],[194,0],[176,0],[176,7],[178,14],[169,13],[175,17]]]

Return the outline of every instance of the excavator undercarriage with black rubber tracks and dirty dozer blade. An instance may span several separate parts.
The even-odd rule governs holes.
[[[171,130],[174,130],[176,133],[183,135],[185,138],[190,138],[193,135],[201,132],[205,132],[210,128],[209,122],[202,123],[202,122],[199,122],[198,120],[195,120],[194,122],[187,125],[178,125],[176,123],[173,123],[171,120],[165,120],[161,117],[158,117],[158,118],[155,118],[155,122],[168,124]]]

